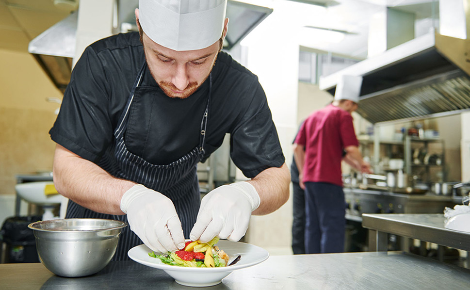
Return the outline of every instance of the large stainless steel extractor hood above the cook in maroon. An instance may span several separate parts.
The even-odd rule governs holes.
[[[470,109],[470,40],[430,32],[321,78],[320,89],[334,95],[341,75],[363,77],[357,113],[373,124],[461,113]]]

